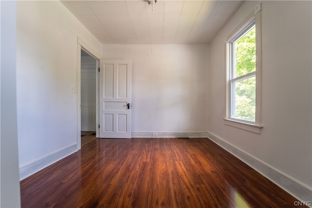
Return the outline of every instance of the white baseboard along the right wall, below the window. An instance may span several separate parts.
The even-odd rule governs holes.
[[[275,169],[269,164],[255,158],[253,155],[240,150],[237,147],[229,144],[216,135],[209,133],[208,138],[217,145],[229,151],[235,157],[245,162],[247,165],[258,171],[261,175],[268,178],[274,184],[284,189],[298,200],[312,202],[312,188],[292,178],[291,176]]]

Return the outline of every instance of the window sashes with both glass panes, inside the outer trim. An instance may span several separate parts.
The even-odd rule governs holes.
[[[255,123],[255,22],[229,41],[230,118]]]

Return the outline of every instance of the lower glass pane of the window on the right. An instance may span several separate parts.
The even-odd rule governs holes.
[[[255,76],[233,82],[232,118],[255,122]]]

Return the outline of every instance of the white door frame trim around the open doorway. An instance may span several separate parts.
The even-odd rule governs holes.
[[[83,42],[79,37],[77,37],[77,150],[81,149],[81,49],[89,54],[91,57],[94,57],[97,60],[97,69],[99,67],[99,60],[101,56],[89,45]],[[99,97],[98,97],[98,73],[96,74],[97,83],[96,83],[96,125],[99,125]],[[96,128],[96,137],[99,137],[99,130]]]

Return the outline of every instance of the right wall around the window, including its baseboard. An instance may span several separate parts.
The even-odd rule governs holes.
[[[224,41],[257,4],[245,1],[210,45],[210,137],[293,195],[312,201],[311,1],[262,2],[263,129],[256,134],[223,123]]]

